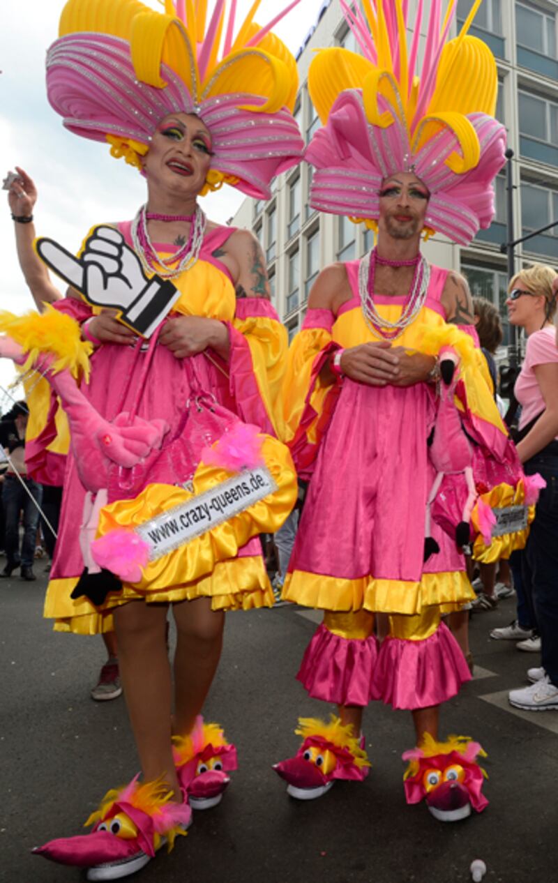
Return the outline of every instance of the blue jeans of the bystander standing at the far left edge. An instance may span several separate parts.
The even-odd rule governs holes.
[[[42,487],[33,479],[23,479],[33,499],[41,505]],[[6,559],[8,567],[31,567],[39,524],[39,509],[26,494],[25,488],[15,475],[6,475],[2,491],[2,504],[6,524]],[[19,514],[23,512],[23,540],[19,553]]]

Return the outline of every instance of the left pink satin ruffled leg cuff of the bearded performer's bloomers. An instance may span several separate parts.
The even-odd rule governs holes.
[[[314,699],[367,706],[377,657],[378,643],[373,635],[339,638],[322,624],[306,647],[297,680]]]

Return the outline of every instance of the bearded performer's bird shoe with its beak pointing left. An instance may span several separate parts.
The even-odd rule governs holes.
[[[329,723],[300,718],[295,732],[303,737],[296,755],[273,767],[288,782],[287,794],[291,797],[315,800],[327,794],[336,779],[366,779],[370,762],[364,737],[355,738],[351,724],[343,725],[334,714]]]

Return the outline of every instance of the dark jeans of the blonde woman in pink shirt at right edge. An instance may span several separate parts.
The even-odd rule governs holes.
[[[541,663],[558,687],[558,454],[542,450],[524,470],[539,472],[547,482],[524,550],[522,577],[540,634]]]

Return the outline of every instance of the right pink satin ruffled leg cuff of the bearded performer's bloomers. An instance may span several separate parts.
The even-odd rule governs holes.
[[[445,623],[424,641],[386,638],[378,654],[371,698],[392,708],[426,708],[456,696],[471,673]]]

